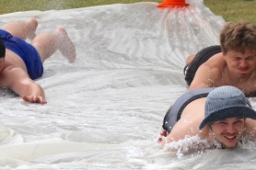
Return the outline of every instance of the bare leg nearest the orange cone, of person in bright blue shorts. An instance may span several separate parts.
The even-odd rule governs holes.
[[[50,33],[41,33],[31,41],[31,45],[40,53],[41,62],[51,57],[57,50],[61,51],[69,62],[76,60],[76,48],[64,28],[57,28]]]

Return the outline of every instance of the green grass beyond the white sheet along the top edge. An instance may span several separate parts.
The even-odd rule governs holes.
[[[29,10],[61,10],[87,6],[111,4],[133,4],[137,2],[157,2],[163,0],[0,0],[0,15]],[[256,25],[256,1],[249,0],[204,0],[217,16],[229,21],[250,20]]]

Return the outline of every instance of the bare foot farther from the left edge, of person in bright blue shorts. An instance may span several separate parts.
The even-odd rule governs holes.
[[[59,44],[59,51],[63,54],[69,62],[75,62],[76,60],[76,48],[73,42],[69,39],[64,28],[57,28],[57,32],[60,33],[61,42]]]

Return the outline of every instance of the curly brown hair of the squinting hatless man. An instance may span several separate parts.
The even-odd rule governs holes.
[[[256,52],[256,26],[246,20],[227,23],[220,32],[220,44],[221,50],[225,53],[245,53],[248,49]]]

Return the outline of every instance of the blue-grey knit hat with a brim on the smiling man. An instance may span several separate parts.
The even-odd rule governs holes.
[[[250,101],[239,88],[220,86],[209,93],[204,108],[204,119],[199,130],[214,121],[228,118],[256,119],[256,111],[250,106]]]

